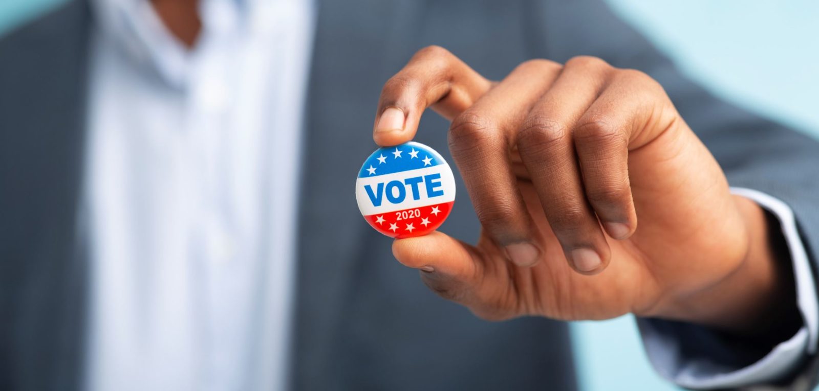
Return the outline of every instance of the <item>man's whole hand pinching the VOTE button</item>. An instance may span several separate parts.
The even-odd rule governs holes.
[[[473,246],[436,231],[393,253],[477,316],[634,312],[749,331],[791,289],[762,210],[731,196],[649,76],[576,57],[494,83],[427,47],[385,84],[375,142],[411,140],[427,107],[452,121],[482,235]]]

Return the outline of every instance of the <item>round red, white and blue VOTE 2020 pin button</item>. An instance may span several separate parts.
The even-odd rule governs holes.
[[[378,148],[361,166],[355,200],[376,231],[423,236],[450,215],[455,177],[441,155],[419,142]]]

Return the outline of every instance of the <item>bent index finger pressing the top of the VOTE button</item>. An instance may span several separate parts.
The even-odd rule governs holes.
[[[451,121],[491,85],[443,47],[424,47],[384,84],[373,140],[379,146],[409,142],[415,137],[423,110],[430,107]]]

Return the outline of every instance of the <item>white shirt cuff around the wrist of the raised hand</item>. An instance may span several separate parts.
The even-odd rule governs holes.
[[[753,200],[780,221],[796,279],[799,312],[804,324],[790,339],[776,345],[756,362],[744,357],[759,357],[746,347],[732,345],[702,326],[658,319],[637,319],[649,361],[667,380],[689,389],[723,389],[767,384],[792,373],[808,353],[817,351],[819,299],[816,281],[808,261],[794,211],[760,191],[732,187],[731,193]]]

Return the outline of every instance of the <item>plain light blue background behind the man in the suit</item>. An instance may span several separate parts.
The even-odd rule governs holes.
[[[61,1],[0,1],[0,34]],[[609,2],[718,95],[819,137],[819,2]],[[675,389],[651,370],[631,317],[573,330],[586,391]]]

